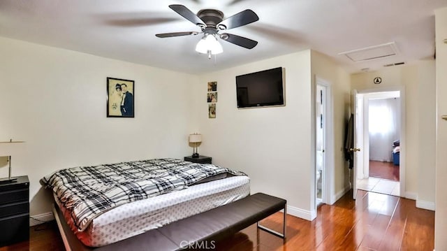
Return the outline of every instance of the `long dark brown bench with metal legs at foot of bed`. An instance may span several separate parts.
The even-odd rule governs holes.
[[[187,217],[159,229],[152,229],[117,243],[101,248],[83,245],[70,230],[58,208],[54,209],[59,230],[67,250],[185,250],[210,246],[211,241],[219,241],[236,234],[265,217],[284,210],[283,233],[273,231],[258,224],[258,228],[268,231],[286,241],[286,200],[268,194],[253,194],[218,208]]]

